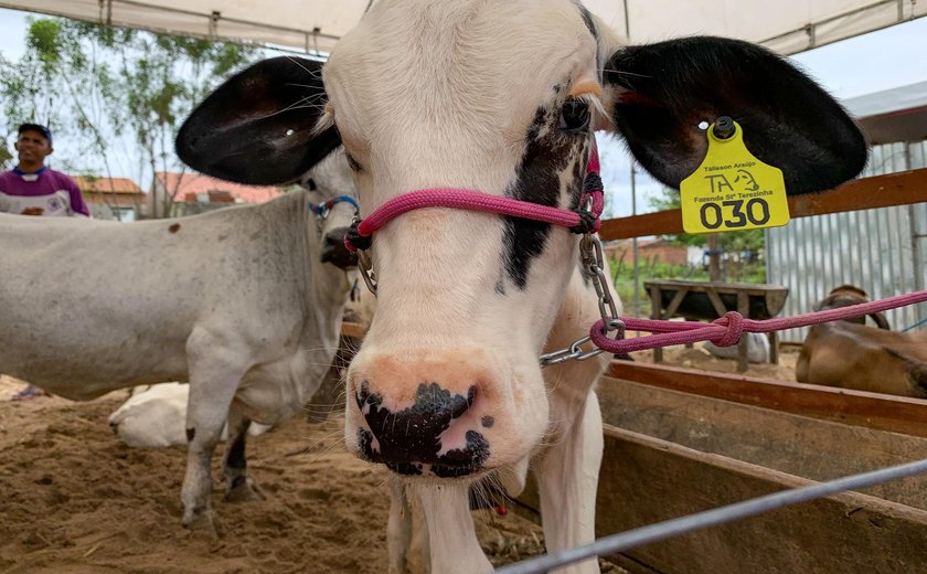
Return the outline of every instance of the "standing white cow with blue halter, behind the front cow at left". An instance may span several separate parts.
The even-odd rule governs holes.
[[[343,164],[319,166],[322,190],[352,189]],[[321,224],[308,204],[322,199],[130,224],[0,214],[0,372],[78,401],[189,381],[183,523],[211,527],[226,418],[226,497],[254,498],[249,422],[299,412],[338,347],[349,283],[322,262],[322,234],[343,235],[354,208],[338,203]]]

